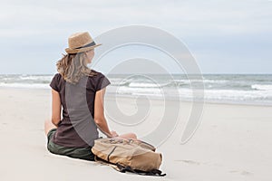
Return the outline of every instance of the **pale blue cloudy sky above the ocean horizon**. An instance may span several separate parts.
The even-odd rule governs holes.
[[[54,73],[72,33],[88,31],[95,40],[129,25],[172,34],[203,73],[272,73],[270,0],[9,0],[1,1],[0,12],[0,74]],[[111,70],[112,62],[124,58],[121,54],[126,59],[141,54],[180,72],[161,52],[140,45],[107,54],[97,69]],[[135,68],[124,64],[126,71]]]

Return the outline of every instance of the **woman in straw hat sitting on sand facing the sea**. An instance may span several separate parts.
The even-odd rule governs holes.
[[[119,136],[110,131],[104,117],[103,98],[111,82],[99,71],[91,70],[94,48],[89,33],[73,33],[69,48],[57,62],[57,71],[50,83],[52,87],[52,118],[46,120],[44,132],[47,149],[53,154],[93,160],[92,146],[100,129],[108,138],[133,138],[128,133]],[[61,110],[63,114],[61,117]]]

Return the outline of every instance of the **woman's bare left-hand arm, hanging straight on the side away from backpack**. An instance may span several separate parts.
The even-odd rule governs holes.
[[[61,98],[59,92],[52,89],[52,117],[51,121],[54,126],[58,126],[59,122],[61,121]]]

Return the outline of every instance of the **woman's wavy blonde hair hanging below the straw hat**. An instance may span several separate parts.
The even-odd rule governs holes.
[[[57,71],[67,82],[76,84],[83,76],[93,76],[93,72],[86,62],[84,52],[63,54],[63,58],[56,63]]]

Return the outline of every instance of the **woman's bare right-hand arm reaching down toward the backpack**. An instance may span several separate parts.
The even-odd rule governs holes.
[[[104,95],[105,95],[106,88],[103,88],[102,90],[98,90],[95,93],[95,99],[94,99],[94,122],[96,123],[98,129],[102,131],[108,138],[116,137],[118,136],[115,131],[110,131],[107,120],[104,117],[104,108],[103,108],[103,102],[104,102]]]

